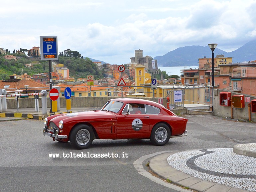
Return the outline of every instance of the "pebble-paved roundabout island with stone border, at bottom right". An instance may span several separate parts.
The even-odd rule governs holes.
[[[244,150],[256,144],[243,144]],[[240,149],[242,150],[242,149]],[[256,191],[256,158],[238,155],[233,148],[164,153],[150,160],[150,169],[172,183],[196,191]]]

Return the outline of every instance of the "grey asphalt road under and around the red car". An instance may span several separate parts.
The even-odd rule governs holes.
[[[161,151],[256,143],[256,123],[206,115],[186,118],[188,136],[171,138],[165,146],[154,146],[149,139],[94,140],[85,150],[75,150],[70,142],[59,143],[43,136],[43,121],[1,122],[0,191],[177,191],[139,174],[133,163]],[[49,153],[59,153],[62,158],[50,158]],[[118,158],[64,158],[63,153],[113,153]],[[125,153],[128,158],[122,158]],[[145,169],[148,160],[143,162]]]

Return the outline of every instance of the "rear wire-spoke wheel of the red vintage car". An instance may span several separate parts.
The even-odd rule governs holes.
[[[170,136],[170,128],[164,123],[158,123],[151,131],[150,141],[154,145],[165,145],[168,143]]]

